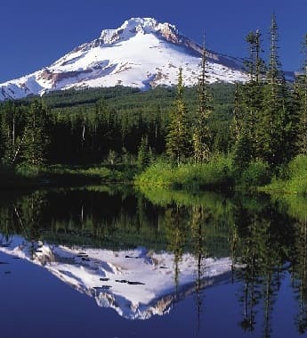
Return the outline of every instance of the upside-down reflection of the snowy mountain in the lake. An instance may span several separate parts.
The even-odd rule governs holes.
[[[0,251],[37,264],[101,307],[115,309],[129,319],[163,316],[190,293],[195,292],[198,261],[189,253],[179,262],[175,287],[174,254],[137,248],[127,251],[86,249],[28,242],[18,235],[1,243]],[[230,279],[231,260],[202,261],[201,286]]]

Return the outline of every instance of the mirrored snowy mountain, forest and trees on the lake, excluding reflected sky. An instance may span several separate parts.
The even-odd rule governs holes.
[[[1,251],[44,266],[123,317],[164,315],[193,293],[198,330],[210,311],[206,287],[233,283],[242,333],[270,337],[290,276],[294,330],[307,332],[304,199],[40,191],[1,200],[0,230]]]

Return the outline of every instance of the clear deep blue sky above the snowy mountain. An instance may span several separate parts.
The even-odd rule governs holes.
[[[99,37],[131,17],[173,23],[186,36],[232,56],[246,56],[244,37],[262,29],[267,49],[271,14],[279,24],[285,70],[300,65],[307,33],[307,0],[15,0],[1,4],[0,82],[48,66],[77,45]]]

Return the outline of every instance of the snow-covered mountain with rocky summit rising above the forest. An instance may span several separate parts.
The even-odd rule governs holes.
[[[201,47],[174,25],[132,18],[51,66],[0,84],[0,100],[69,88],[172,86],[180,67],[185,86],[191,86],[198,81],[200,57]],[[241,59],[208,51],[208,60],[210,82],[246,80]]]

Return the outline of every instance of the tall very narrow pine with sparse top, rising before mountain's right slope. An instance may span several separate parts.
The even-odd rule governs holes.
[[[212,112],[211,96],[209,94],[208,62],[206,60],[205,38],[202,51],[201,73],[198,78],[198,111],[193,128],[193,155],[196,163],[209,160],[211,151],[211,135],[208,126]]]

